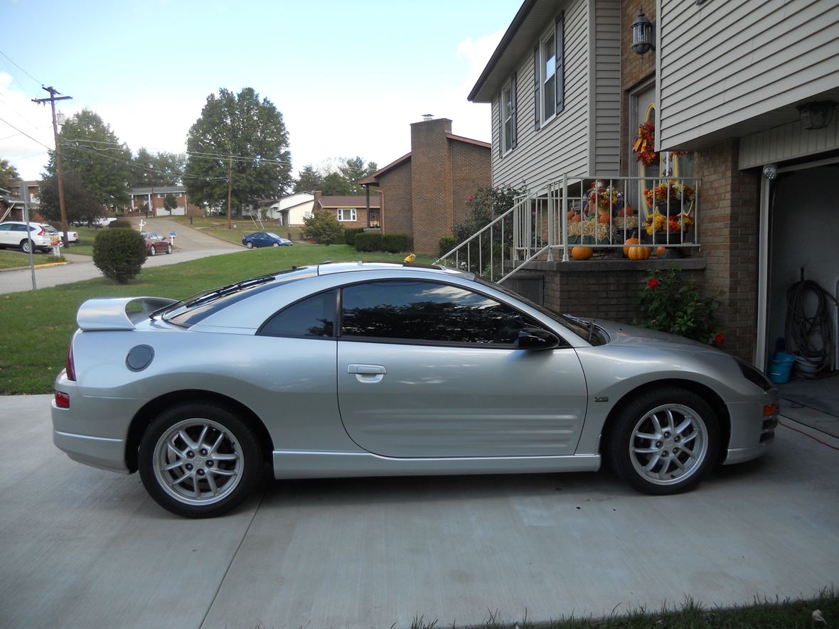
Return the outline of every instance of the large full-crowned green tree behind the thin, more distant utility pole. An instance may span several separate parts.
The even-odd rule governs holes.
[[[207,96],[186,141],[186,190],[196,204],[227,206],[232,164],[232,206],[276,199],[291,185],[289,134],[283,114],[251,87]]]

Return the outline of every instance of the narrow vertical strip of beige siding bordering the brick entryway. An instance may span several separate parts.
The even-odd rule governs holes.
[[[591,120],[591,174],[617,175],[621,141],[621,5],[618,0],[595,0],[591,24],[594,30],[595,95]]]

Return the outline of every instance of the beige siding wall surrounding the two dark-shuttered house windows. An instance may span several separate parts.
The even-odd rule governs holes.
[[[554,20],[545,23],[545,31],[551,28]],[[563,173],[586,174],[589,167],[588,1],[571,0],[565,6],[565,108],[539,130],[534,129],[536,44],[517,65],[519,143],[503,158],[498,148],[498,95],[492,100],[492,185],[534,190]]]

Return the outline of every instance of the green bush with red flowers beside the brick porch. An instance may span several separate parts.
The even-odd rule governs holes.
[[[654,269],[649,272],[638,299],[641,320],[633,323],[718,346],[725,336],[714,325],[714,311],[720,307],[724,294],[720,291],[702,298],[693,278],[685,283],[678,267],[666,271]]]

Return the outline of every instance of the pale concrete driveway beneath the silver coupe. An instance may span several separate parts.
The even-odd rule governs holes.
[[[190,521],[67,459],[49,408],[0,398],[4,627],[464,626],[839,583],[839,451],[815,432],[779,428],[763,460],[683,496],[605,472],[277,481]]]

